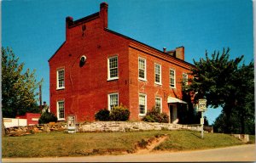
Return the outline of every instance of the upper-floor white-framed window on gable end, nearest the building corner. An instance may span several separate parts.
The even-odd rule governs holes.
[[[108,58],[108,81],[119,78],[118,56]]]

